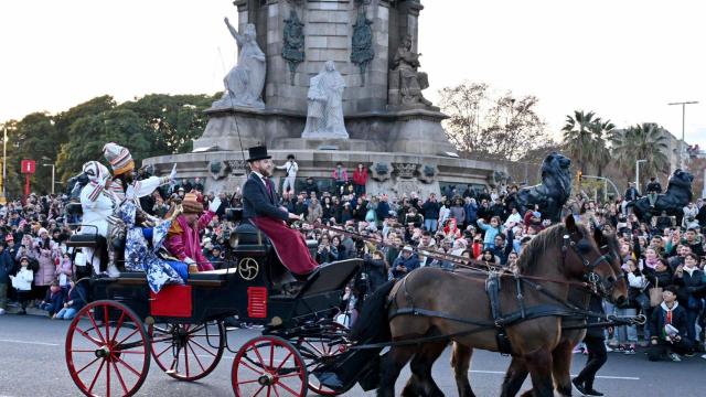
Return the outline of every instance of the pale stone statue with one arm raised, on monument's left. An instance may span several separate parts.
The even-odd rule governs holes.
[[[255,25],[245,25],[245,32],[239,33],[227,18],[225,24],[238,43],[238,63],[223,78],[225,93],[213,107],[244,106],[258,109],[265,108],[261,99],[265,87],[265,53],[257,45]]]

